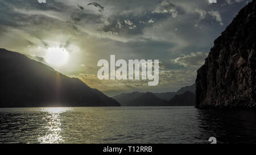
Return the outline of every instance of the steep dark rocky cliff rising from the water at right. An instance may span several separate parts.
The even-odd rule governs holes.
[[[256,1],[214,41],[197,70],[196,107],[256,107]]]

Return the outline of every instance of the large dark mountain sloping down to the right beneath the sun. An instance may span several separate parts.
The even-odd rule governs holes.
[[[77,78],[6,49],[0,49],[0,81],[0,107],[120,105]]]

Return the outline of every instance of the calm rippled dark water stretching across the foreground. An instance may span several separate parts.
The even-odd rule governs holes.
[[[0,108],[0,143],[256,143],[255,111]]]

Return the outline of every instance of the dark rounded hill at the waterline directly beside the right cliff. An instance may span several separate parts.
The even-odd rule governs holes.
[[[195,106],[196,105],[196,94],[191,91],[186,91],[183,94],[175,95],[169,101],[169,106]]]

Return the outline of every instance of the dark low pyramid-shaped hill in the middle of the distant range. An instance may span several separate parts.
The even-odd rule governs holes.
[[[128,103],[127,106],[167,106],[167,100],[156,97],[153,93],[147,92]]]

